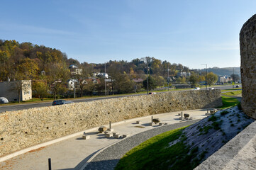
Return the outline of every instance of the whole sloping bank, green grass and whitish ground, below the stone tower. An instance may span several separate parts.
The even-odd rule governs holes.
[[[222,108],[237,103],[236,98],[223,96]],[[141,143],[123,156],[116,169],[194,169],[252,121],[238,107],[219,111]]]

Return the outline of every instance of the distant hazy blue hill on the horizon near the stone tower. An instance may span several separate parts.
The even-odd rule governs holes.
[[[224,67],[224,68],[213,67],[213,68],[208,68],[208,72],[213,72],[218,76],[225,76],[225,75],[230,76],[231,74],[233,74],[233,69],[234,69],[234,74],[238,74],[240,76],[240,67]],[[203,69],[202,71],[205,72],[206,69]]]

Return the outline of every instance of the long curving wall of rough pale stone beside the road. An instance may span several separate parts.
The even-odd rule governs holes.
[[[0,157],[109,121],[221,105],[220,90],[173,91],[1,113]]]

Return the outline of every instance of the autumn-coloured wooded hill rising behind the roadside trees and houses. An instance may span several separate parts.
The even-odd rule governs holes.
[[[0,40],[0,81],[6,81],[8,77],[13,79],[45,79],[40,77],[40,72],[45,71],[46,77],[56,74],[57,69],[68,68],[75,64],[83,69],[84,77],[91,77],[95,72],[104,72],[104,64],[80,63],[60,50],[44,45],[33,45],[30,42],[19,43],[16,40]],[[136,58],[131,62],[109,61],[106,63],[108,74],[127,74],[134,78],[136,75],[149,74],[167,77],[175,76],[178,72],[189,72],[188,67],[182,64],[157,60],[154,57]],[[61,68],[60,68],[61,69]],[[62,72],[67,70],[62,70]],[[141,76],[140,76],[141,77]]]

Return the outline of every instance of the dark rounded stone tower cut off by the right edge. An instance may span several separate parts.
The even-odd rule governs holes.
[[[240,31],[243,112],[256,119],[256,14]]]

